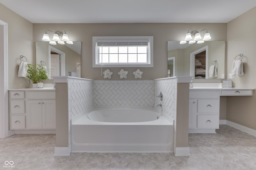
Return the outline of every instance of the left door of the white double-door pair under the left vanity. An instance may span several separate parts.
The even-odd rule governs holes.
[[[26,102],[26,128],[42,129],[42,101],[28,100]]]

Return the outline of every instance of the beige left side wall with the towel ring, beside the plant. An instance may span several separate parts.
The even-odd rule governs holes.
[[[0,4],[0,20],[8,23],[8,87],[29,87],[28,79],[18,77],[20,55],[33,63],[33,24]]]

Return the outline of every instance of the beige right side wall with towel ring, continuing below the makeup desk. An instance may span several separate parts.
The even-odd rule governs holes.
[[[243,76],[233,76],[234,87],[256,87],[256,7],[227,24],[227,73],[236,55],[243,53]],[[227,119],[256,130],[256,93],[253,96],[227,97]]]

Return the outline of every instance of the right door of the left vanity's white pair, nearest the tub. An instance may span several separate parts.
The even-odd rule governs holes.
[[[42,100],[42,128],[56,129],[55,100]]]

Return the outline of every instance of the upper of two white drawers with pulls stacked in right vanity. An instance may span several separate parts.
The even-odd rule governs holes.
[[[219,99],[198,99],[197,112],[198,113],[219,113],[220,100]]]

